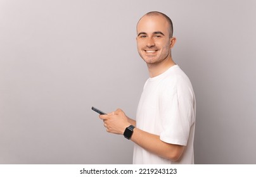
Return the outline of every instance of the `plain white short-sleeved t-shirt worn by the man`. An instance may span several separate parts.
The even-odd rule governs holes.
[[[159,157],[134,145],[133,164],[194,164],[196,101],[188,76],[174,65],[148,78],[139,101],[136,127],[166,143],[184,145],[179,161]]]

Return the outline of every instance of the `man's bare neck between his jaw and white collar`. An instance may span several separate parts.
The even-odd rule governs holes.
[[[174,63],[172,57],[165,59],[160,63],[147,64],[150,77],[153,78],[155,76],[161,75],[175,64],[176,63]]]

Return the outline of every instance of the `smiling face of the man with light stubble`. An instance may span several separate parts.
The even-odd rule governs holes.
[[[161,63],[170,58],[172,38],[169,24],[161,15],[143,16],[137,26],[137,47],[147,64]]]

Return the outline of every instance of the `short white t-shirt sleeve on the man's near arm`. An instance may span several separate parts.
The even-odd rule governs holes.
[[[181,76],[165,80],[160,93],[160,119],[163,142],[187,145],[193,118],[193,90]]]

